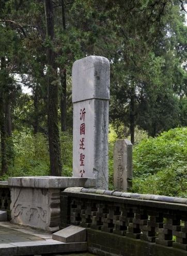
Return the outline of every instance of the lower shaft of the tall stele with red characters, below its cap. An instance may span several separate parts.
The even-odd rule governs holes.
[[[83,109],[85,119],[80,120]],[[73,104],[73,176],[94,177],[96,187],[108,187],[108,100],[91,99]]]

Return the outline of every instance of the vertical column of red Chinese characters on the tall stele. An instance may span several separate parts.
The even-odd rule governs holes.
[[[85,154],[84,154],[84,150],[85,150],[85,138],[83,137],[85,135],[85,115],[86,115],[86,111],[85,108],[81,109],[80,111],[80,147],[79,149],[81,149],[80,151],[80,176],[83,177],[83,175],[85,174],[85,170],[83,169],[84,167],[84,161],[85,161]],[[82,123],[83,122],[83,123]]]

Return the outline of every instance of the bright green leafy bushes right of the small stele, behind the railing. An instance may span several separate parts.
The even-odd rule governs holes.
[[[133,150],[133,191],[187,197],[187,128],[143,140]]]

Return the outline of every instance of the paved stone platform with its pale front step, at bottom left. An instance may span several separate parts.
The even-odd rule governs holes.
[[[0,255],[34,255],[81,252],[87,250],[87,243],[63,243],[52,239],[52,235],[10,222],[0,222]]]

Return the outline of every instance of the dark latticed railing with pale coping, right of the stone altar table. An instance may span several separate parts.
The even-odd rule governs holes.
[[[61,228],[88,228],[88,250],[100,255],[187,255],[187,199],[67,188]]]

